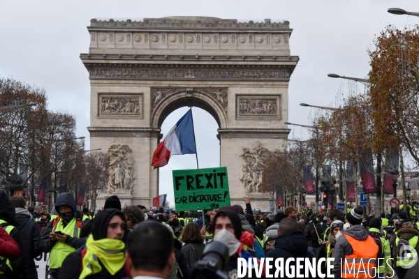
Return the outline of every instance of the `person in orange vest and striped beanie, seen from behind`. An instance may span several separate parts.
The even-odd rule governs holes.
[[[369,236],[367,229],[362,227],[362,216],[364,209],[362,206],[356,206],[351,209],[351,212],[346,214],[346,220],[350,227],[337,239],[335,244],[335,261],[333,262],[333,273],[335,278],[372,278],[375,276],[374,269],[376,267],[376,260],[369,262],[369,271],[371,273],[353,274],[358,270],[363,271],[362,263],[355,262],[351,266],[345,266],[343,262],[353,262],[353,259],[377,259],[378,246],[374,239]],[[350,271],[348,268],[352,268]]]

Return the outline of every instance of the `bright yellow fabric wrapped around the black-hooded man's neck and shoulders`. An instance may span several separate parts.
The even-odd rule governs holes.
[[[119,239],[100,239],[95,241],[93,236],[90,235],[86,242],[86,248],[87,251],[82,261],[83,271],[80,274],[80,279],[101,272],[102,266],[99,259],[112,276],[124,267],[125,255],[123,250],[125,244]]]

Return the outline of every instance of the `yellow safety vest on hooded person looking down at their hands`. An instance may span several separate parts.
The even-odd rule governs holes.
[[[87,218],[87,217],[86,217]],[[76,218],[73,218],[66,227],[63,226],[63,220],[59,220],[57,225],[52,228],[52,232],[61,231],[64,234],[68,234],[72,237],[80,236],[80,229],[77,225]],[[64,259],[72,252],[75,252],[75,248],[69,246],[66,243],[57,241],[50,251],[50,269],[59,269],[63,265]]]

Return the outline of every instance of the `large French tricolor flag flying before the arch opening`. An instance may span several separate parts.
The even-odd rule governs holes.
[[[173,155],[195,154],[195,133],[193,131],[192,110],[186,112],[157,146],[152,158],[154,169],[168,165]]]

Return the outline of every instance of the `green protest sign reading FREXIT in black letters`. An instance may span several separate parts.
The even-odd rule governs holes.
[[[226,167],[179,169],[172,173],[176,211],[230,206]]]

